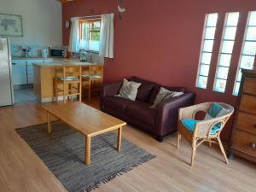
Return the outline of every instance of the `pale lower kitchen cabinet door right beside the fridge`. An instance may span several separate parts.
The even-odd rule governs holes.
[[[12,61],[12,78],[14,85],[27,84],[26,60]]]

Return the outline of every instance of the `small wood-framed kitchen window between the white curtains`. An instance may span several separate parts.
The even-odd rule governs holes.
[[[101,20],[80,21],[80,47],[90,51],[100,49]]]

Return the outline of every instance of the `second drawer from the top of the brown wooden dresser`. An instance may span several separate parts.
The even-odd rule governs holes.
[[[240,110],[256,114],[256,96],[241,96]]]

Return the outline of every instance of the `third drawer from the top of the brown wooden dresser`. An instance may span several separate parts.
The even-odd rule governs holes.
[[[256,115],[239,112],[236,119],[236,127],[256,136]]]

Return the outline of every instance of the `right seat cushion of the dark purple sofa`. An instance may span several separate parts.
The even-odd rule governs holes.
[[[156,110],[149,108],[148,103],[136,101],[125,108],[125,113],[133,119],[140,120],[148,125],[154,125]]]

